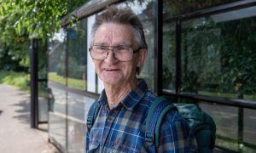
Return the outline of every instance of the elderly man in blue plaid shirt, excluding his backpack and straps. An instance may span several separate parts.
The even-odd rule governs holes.
[[[104,90],[86,133],[87,152],[148,152],[145,119],[155,95],[137,78],[147,48],[142,23],[131,9],[110,7],[96,17],[90,55]],[[187,122],[170,111],[160,127],[157,152],[190,152],[193,140]]]

